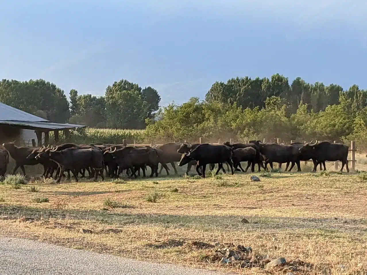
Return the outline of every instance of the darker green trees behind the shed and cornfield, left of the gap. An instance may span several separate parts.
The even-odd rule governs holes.
[[[115,81],[105,96],[65,92],[43,79],[17,81],[3,79],[0,101],[52,122],[82,124],[98,128],[143,129],[145,119],[159,109],[160,96],[152,87],[141,88],[127,80]]]

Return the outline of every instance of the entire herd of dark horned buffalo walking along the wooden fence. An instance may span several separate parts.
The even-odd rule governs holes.
[[[70,171],[75,180],[78,181],[78,175],[85,176],[86,170],[89,177],[97,180],[98,175],[104,180],[104,173],[109,177],[119,177],[126,170],[128,177],[140,176],[142,170],[145,177],[146,166],[151,168],[150,177],[157,177],[164,169],[169,175],[167,164],[171,164],[177,174],[175,162],[178,166],[187,164],[186,174],[190,171],[192,165],[196,166],[198,175],[205,177],[206,165],[210,165],[210,170],[218,164],[218,170],[227,170],[247,172],[251,166],[251,172],[255,172],[255,165],[267,170],[267,165],[273,169],[273,162],[286,163],[286,171],[289,164],[291,171],[294,165],[297,165],[297,171],[301,171],[300,161],[313,162],[313,171],[316,171],[318,165],[322,170],[321,164],[325,167],[325,161],[341,161],[341,171],[346,166],[348,168],[349,147],[342,143],[320,142],[299,143],[294,142],[289,145],[277,143],[262,143],[259,140],[251,140],[249,143],[224,142],[223,144],[191,144],[191,143],[165,143],[158,146],[124,146],[122,144],[73,144],[66,143],[59,146],[18,147],[14,143],[3,143],[0,148],[0,177],[4,177],[9,155],[15,160],[15,171],[20,167],[25,175],[24,165],[41,164],[44,167],[44,177],[52,177],[60,182],[67,172],[67,178],[70,179]],[[245,170],[241,167],[241,162],[247,162]],[[158,172],[158,165],[161,164]],[[241,170],[240,170],[240,169]],[[138,175],[137,175],[138,172]]]

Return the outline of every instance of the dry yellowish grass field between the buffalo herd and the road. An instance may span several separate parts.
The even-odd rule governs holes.
[[[243,173],[207,179],[163,176],[124,184],[32,181],[37,194],[49,199],[44,203],[33,202],[34,193],[27,188],[1,184],[0,231],[140,260],[265,272],[264,264],[221,264],[215,247],[197,242],[233,243],[251,246],[253,258],[262,263],[277,257],[293,261],[291,265],[302,263],[297,272],[290,265],[267,271],[273,274],[366,274],[363,177],[260,174],[254,175],[261,182]],[[147,199],[152,194],[159,194],[154,203]],[[249,223],[241,223],[243,218]]]

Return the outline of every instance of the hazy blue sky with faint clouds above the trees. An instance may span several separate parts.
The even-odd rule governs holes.
[[[0,77],[67,95],[127,79],[161,106],[237,76],[367,89],[366,14],[364,0],[3,1]]]

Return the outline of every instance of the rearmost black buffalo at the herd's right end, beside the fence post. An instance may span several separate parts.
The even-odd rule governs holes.
[[[340,169],[340,172],[343,171],[344,165],[346,166],[346,171],[349,172],[349,146],[346,144],[330,143],[328,141],[317,143],[316,140],[315,143],[304,144],[304,146],[298,149],[298,152],[302,156],[316,160],[316,164],[313,166],[314,172],[316,171],[317,165],[325,161],[341,161],[342,168]]]

